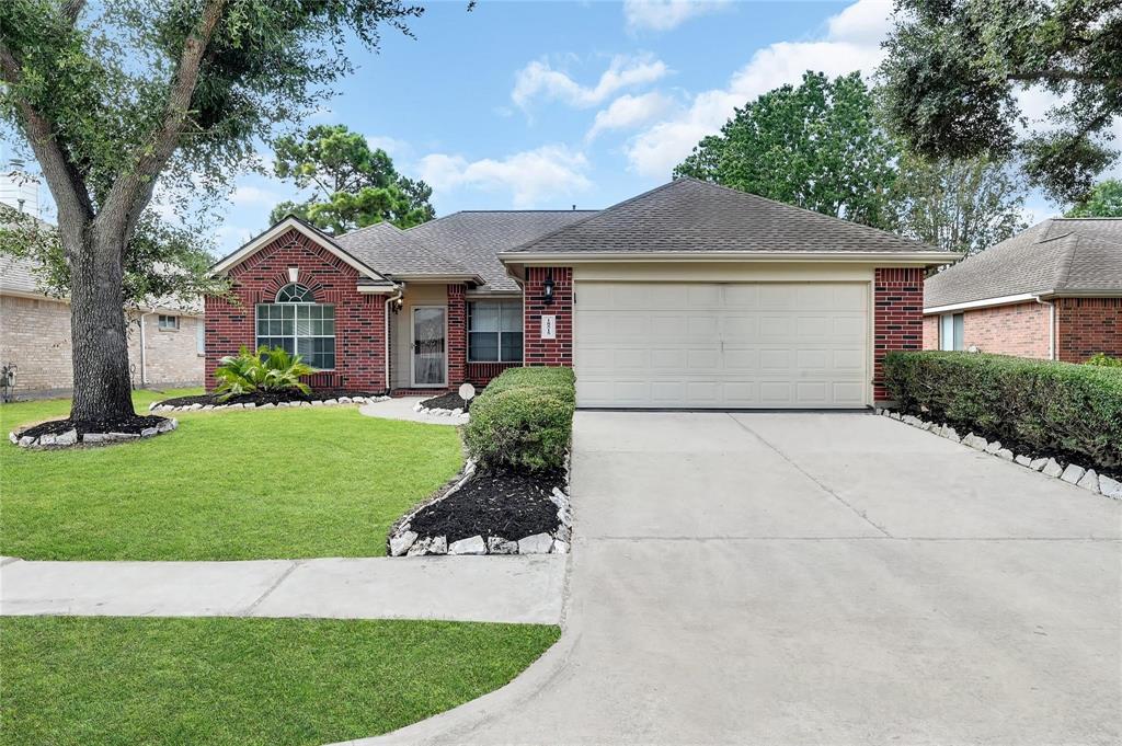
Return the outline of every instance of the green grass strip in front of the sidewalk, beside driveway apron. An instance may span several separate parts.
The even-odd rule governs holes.
[[[0,744],[323,744],[502,687],[557,627],[231,618],[0,618]]]

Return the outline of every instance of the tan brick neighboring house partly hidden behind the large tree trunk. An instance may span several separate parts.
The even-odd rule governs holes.
[[[66,393],[74,383],[70,303],[44,294],[34,269],[26,259],[0,257],[0,365],[18,367],[18,396]],[[202,384],[201,307],[157,304],[128,316],[134,386]]]

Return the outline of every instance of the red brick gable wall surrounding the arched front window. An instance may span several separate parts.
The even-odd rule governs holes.
[[[220,358],[256,344],[256,304],[272,303],[288,284],[288,268],[318,303],[335,306],[335,369],[307,379],[313,388],[384,392],[386,298],[357,289],[358,271],[297,230],[286,231],[230,270],[240,303],[206,298],[206,387]]]

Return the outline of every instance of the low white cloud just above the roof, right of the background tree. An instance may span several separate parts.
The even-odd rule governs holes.
[[[421,159],[420,175],[435,190],[461,187],[509,192],[514,206],[549,204],[559,197],[591,187],[585,176],[588,159],[563,145],[524,150],[500,160],[468,160],[434,153]]]

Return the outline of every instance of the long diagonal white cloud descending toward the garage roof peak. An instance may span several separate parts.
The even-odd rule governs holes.
[[[858,0],[827,21],[826,36],[811,42],[780,42],[758,49],[723,89],[698,93],[678,116],[656,122],[627,147],[631,167],[645,176],[670,177],[698,140],[717,132],[736,107],[784,83],[797,83],[812,70],[842,75],[871,74],[883,56],[891,22],[886,0]]]

